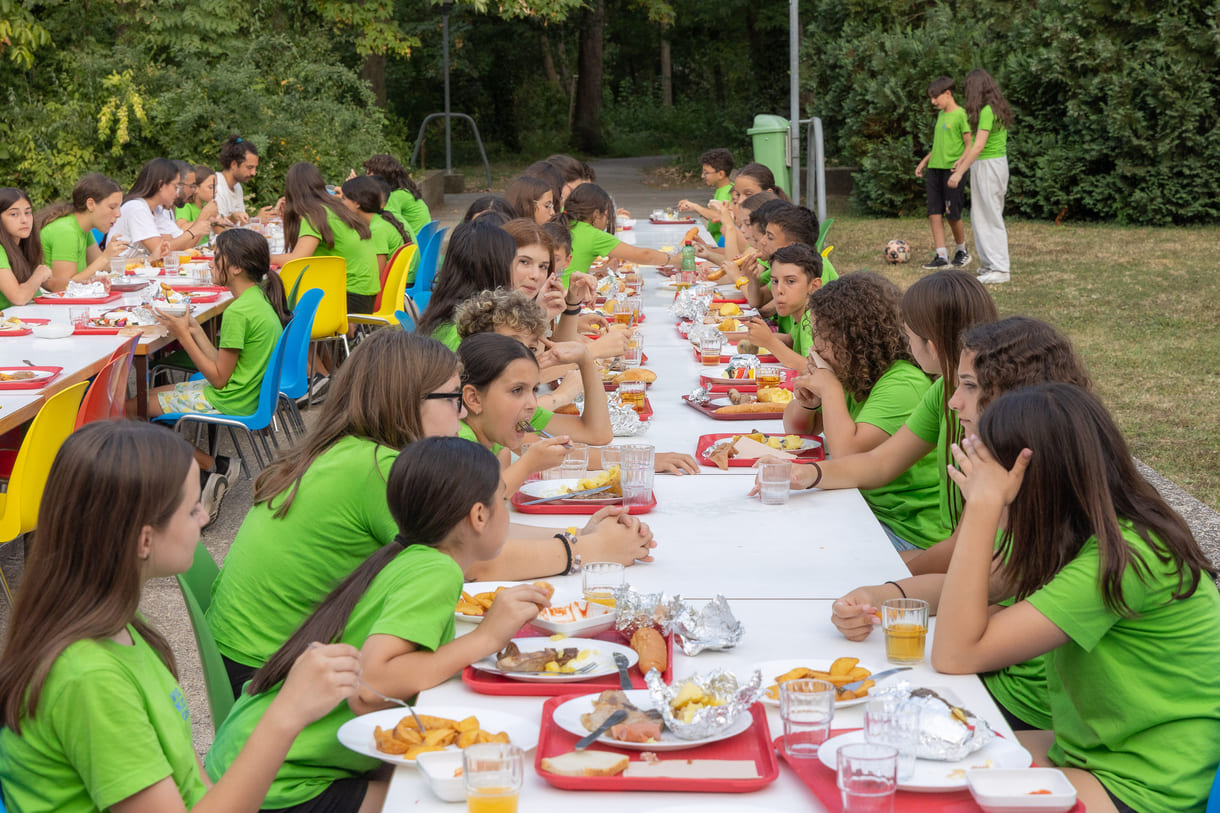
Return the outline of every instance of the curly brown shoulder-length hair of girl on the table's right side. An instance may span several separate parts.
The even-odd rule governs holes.
[[[880,273],[856,271],[826,283],[809,297],[814,334],[842,359],[834,374],[856,400],[872,392],[894,361],[911,361],[898,304],[902,293]]]

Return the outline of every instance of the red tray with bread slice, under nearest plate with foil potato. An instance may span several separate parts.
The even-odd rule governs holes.
[[[589,746],[589,752],[606,752],[628,761],[626,773],[611,776],[571,776],[550,773],[543,769],[543,761],[566,754],[576,747],[578,737],[559,728],[554,720],[555,709],[580,695],[551,697],[542,707],[542,730],[538,736],[538,748],[534,753],[534,771],[549,784],[564,790],[589,791],[673,791],[703,793],[747,793],[761,790],[780,775],[780,762],[771,746],[771,729],[766,723],[766,712],[761,703],[750,707],[753,719],[750,726],[737,736],[719,742],[695,746],[682,751],[664,752],[645,758],[642,751],[619,751],[601,743]],[[597,757],[595,757],[597,758]],[[654,775],[631,775],[634,765],[660,769]],[[665,763],[672,763],[677,775],[655,775],[664,773]],[[727,779],[720,765],[753,763],[753,778]]]

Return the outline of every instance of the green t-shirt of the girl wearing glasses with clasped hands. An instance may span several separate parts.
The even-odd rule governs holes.
[[[398,449],[344,437],[314,460],[293,507],[281,499],[250,509],[212,584],[207,626],[221,652],[261,667],[334,587],[398,526],[386,479]]]

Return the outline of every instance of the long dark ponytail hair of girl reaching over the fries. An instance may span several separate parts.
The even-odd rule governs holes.
[[[398,536],[322,599],[300,629],[254,674],[250,693],[265,692],[288,676],[293,663],[314,641],[337,641],[373,579],[407,546],[437,547],[478,503],[508,510],[494,504],[499,487],[500,464],[477,443],[428,437],[403,449],[386,483],[386,500],[398,525]]]

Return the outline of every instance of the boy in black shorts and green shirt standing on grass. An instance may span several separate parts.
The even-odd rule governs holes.
[[[927,96],[932,106],[941,112],[936,116],[936,134],[932,137],[932,151],[915,167],[915,177],[925,178],[927,186],[927,219],[932,226],[932,242],[936,244],[936,256],[928,260],[924,269],[939,271],[954,267],[965,269],[970,265],[970,253],[966,251],[966,229],[961,225],[961,206],[965,188],[960,184],[949,187],[954,162],[970,149],[970,122],[965,109],[953,99],[954,82],[947,76],[932,79],[927,85]],[[926,170],[926,172],[925,172]],[[944,219],[949,220],[953,240],[956,244],[953,261],[944,247]]]

